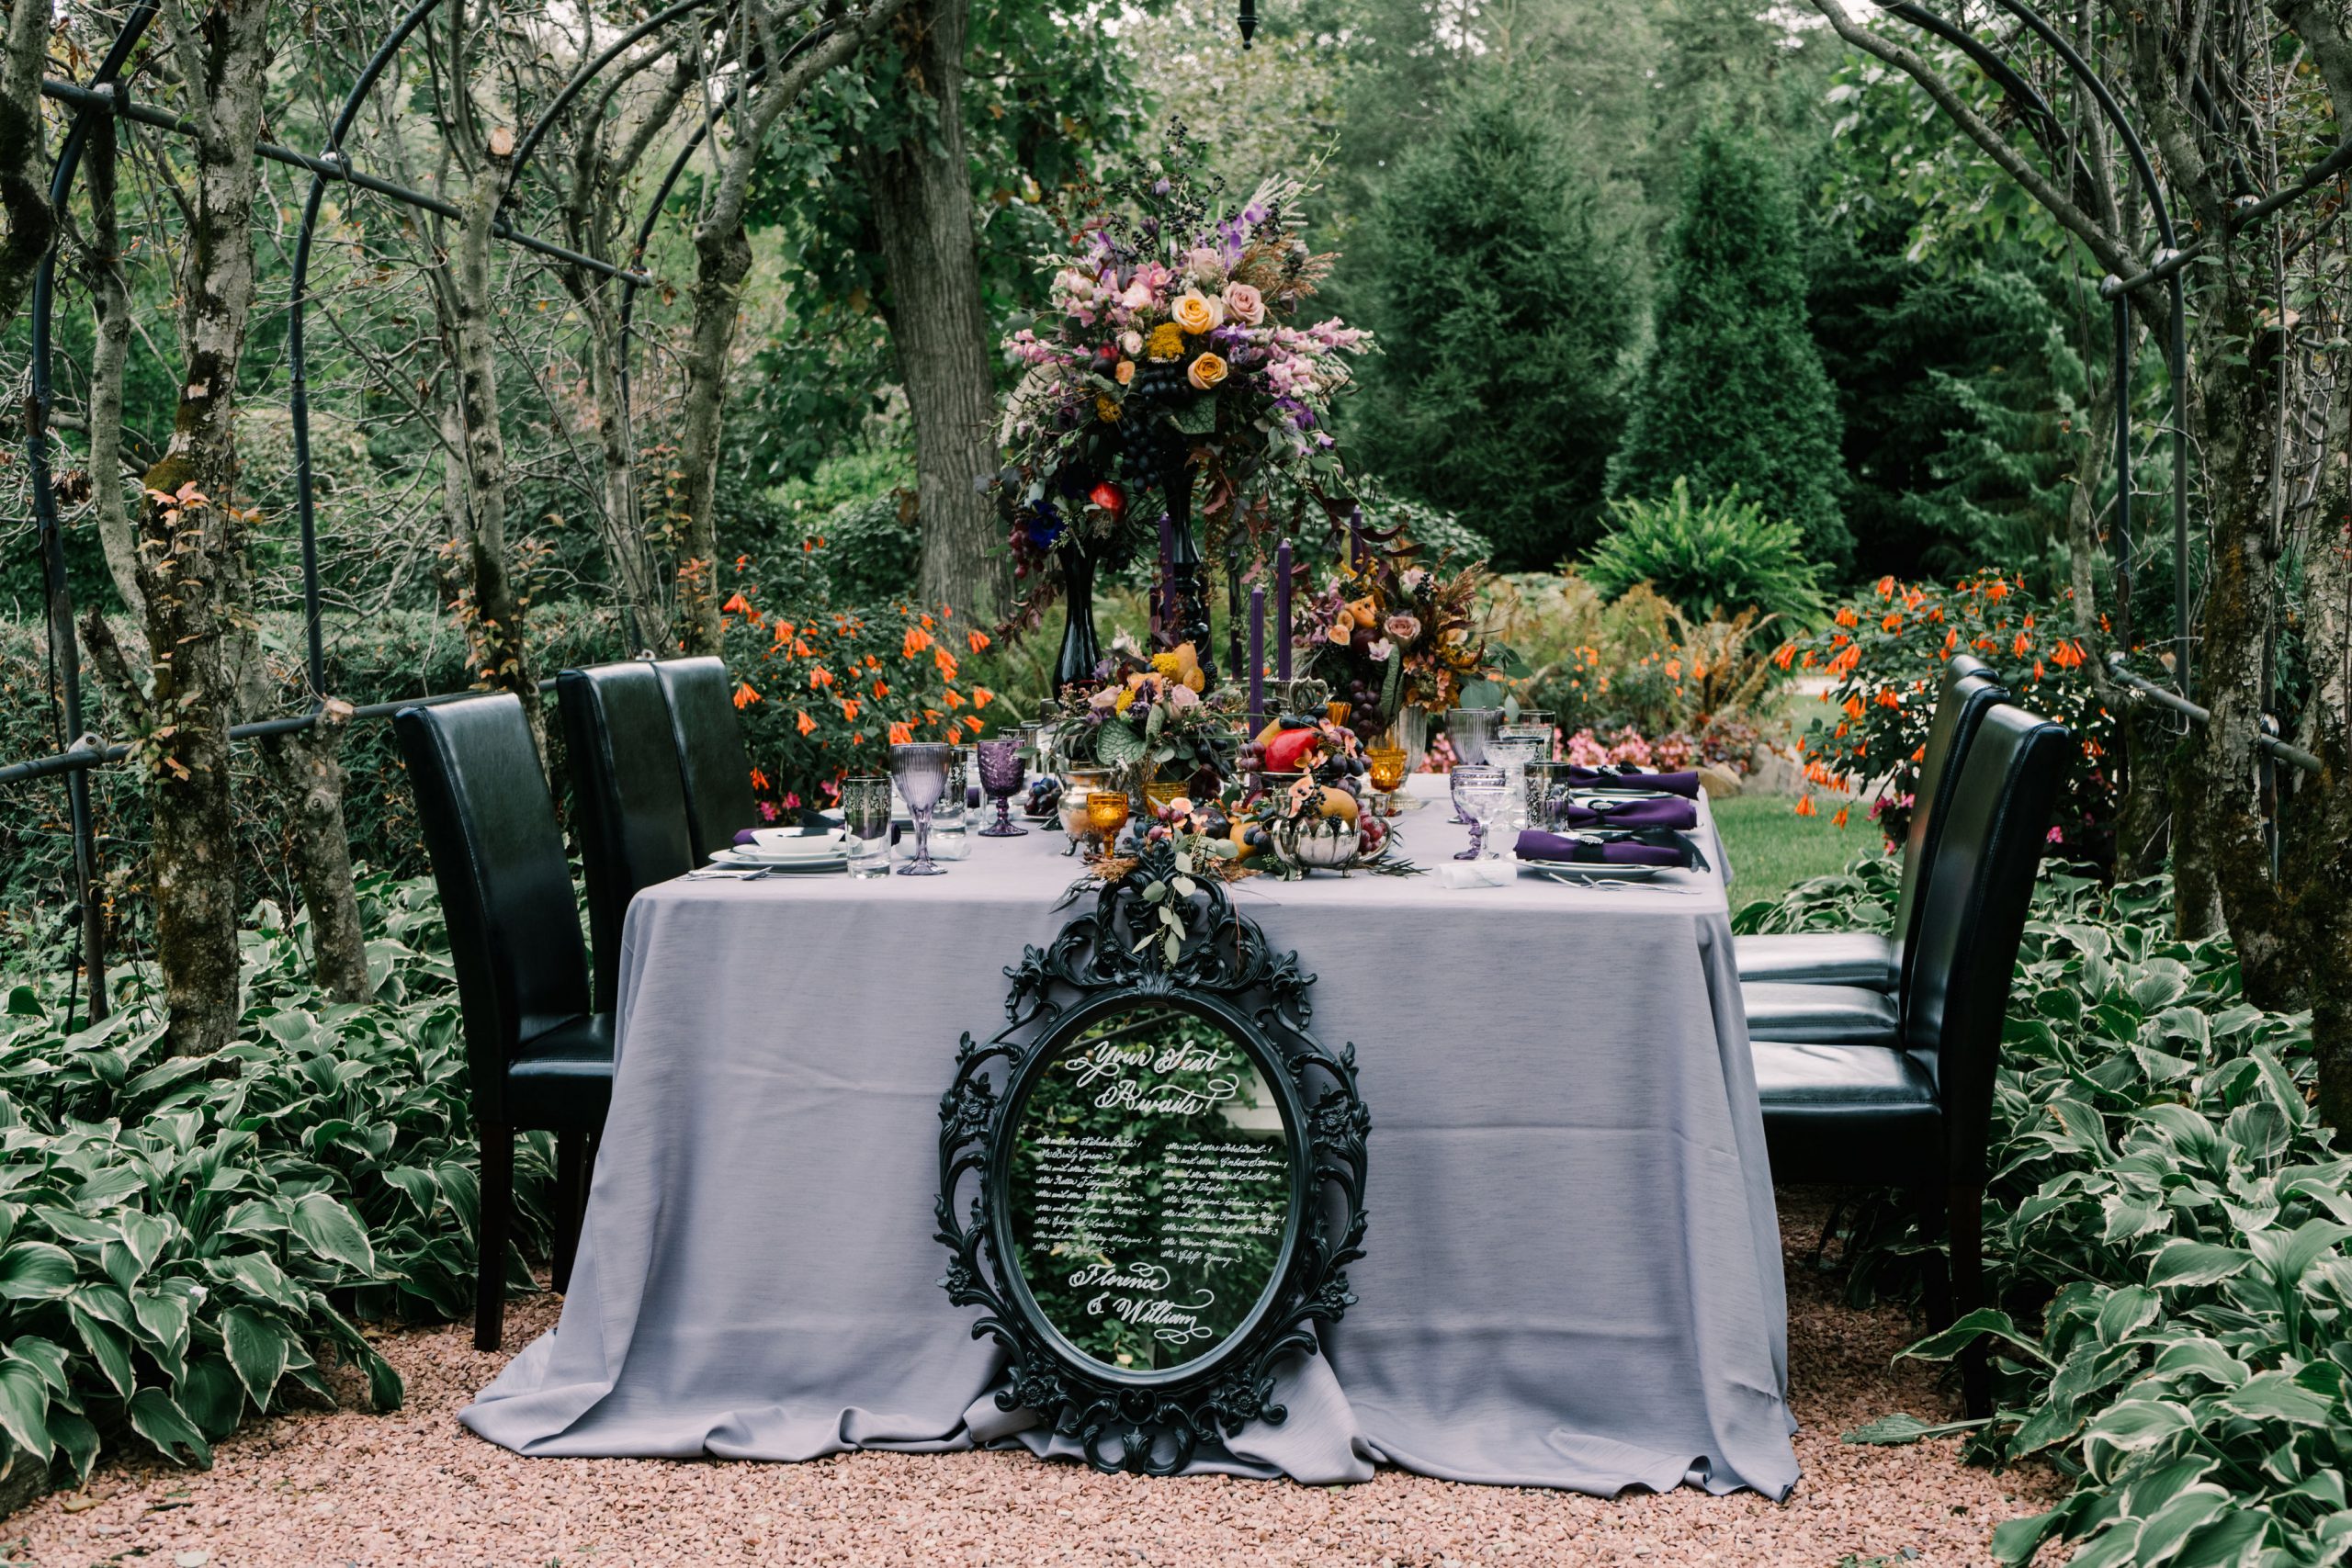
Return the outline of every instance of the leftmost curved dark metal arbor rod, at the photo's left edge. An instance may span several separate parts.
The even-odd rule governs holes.
[[[94,82],[108,87],[108,101],[113,99],[113,82],[122,75],[122,66],[129,63],[132,49],[139,47],[139,38],[146,33],[148,24],[155,21],[158,0],[139,0],[129,16],[122,19],[122,31],[115,33],[115,42],[106,49],[106,59],[99,61]],[[73,193],[73,174],[82,165],[82,146],[89,141],[89,127],[94,122],[92,108],[80,106],[73,113],[73,122],[66,127],[66,141],[56,150],[56,169],[49,174],[49,212],[64,212],[66,197]],[[106,134],[115,134],[115,122],[108,115],[96,118],[106,127]],[[38,134],[38,127],[35,127]],[[49,482],[49,313],[56,301],[56,247],[59,237],[52,235],[49,249],[40,256],[40,270],[33,273],[33,395],[26,400],[24,421],[24,456],[26,456],[26,480],[33,487],[33,517],[40,527],[40,557],[42,557],[42,597],[49,609],[49,654],[56,658],[59,689],[66,705],[66,741],[78,743],[82,738],[82,646],[73,632],[73,583],[66,578],[66,534],[56,517],[56,487]],[[80,884],[80,912],[82,912],[82,969],[89,976],[89,1004],[85,1016],[89,1023],[101,1023],[108,1013],[106,1004],[106,905],[99,898],[99,835],[89,818],[89,778],[80,771],[66,778],[66,820],[73,827],[73,877]],[[73,1023],[71,1018],[66,1020]]]

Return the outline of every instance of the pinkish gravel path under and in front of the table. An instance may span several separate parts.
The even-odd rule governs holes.
[[[816,1465],[520,1460],[456,1425],[503,1356],[463,1326],[393,1333],[409,1385],[395,1415],[282,1415],[219,1448],[209,1474],[127,1462],[85,1495],[0,1523],[0,1556],[40,1568],[586,1568],[590,1563],[1983,1563],[1992,1526],[2051,1507],[2044,1472],[1994,1476],[1955,1443],[1851,1448],[1884,1415],[1945,1413],[1931,1378],[1889,1356],[1893,1312],[1849,1312],[1809,1265],[1820,1204],[1783,1194],[1797,1460],[1788,1505],[1691,1488],[1618,1500],[1454,1486],[1381,1472],[1369,1486],[1143,1481],[1004,1453],[842,1455]],[[508,1309],[508,1342],[555,1321]]]

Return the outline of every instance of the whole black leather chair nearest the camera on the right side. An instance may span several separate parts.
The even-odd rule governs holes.
[[[1983,717],[1926,882],[1896,1048],[1750,1041],[1776,1182],[1907,1187],[1922,1229],[1947,1232],[1950,1272],[1929,1281],[1938,1328],[1983,1305],[1992,1070],[2070,748],[2063,724],[2009,703]],[[1980,1359],[1964,1382],[1985,1413]]]

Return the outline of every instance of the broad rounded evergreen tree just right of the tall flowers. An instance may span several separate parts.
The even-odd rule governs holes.
[[[1639,327],[1621,193],[1508,73],[1456,89],[1442,129],[1381,183],[1348,244],[1345,306],[1381,357],[1350,449],[1461,512],[1501,569],[1543,569],[1597,529]]]

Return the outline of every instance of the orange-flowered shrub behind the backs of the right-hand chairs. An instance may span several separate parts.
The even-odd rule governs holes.
[[[2072,856],[2107,863],[2122,797],[2114,717],[2098,703],[2084,668],[2089,656],[2065,635],[2065,611],[1999,571],[1978,571],[1952,588],[1879,578],[1867,597],[1842,604],[1828,628],[1773,654],[1783,670],[1820,670],[1837,682],[1820,693],[1830,712],[1797,743],[1809,757],[1806,778],[1846,795],[1875,790],[1870,816],[1889,839],[1900,839],[1919,795],[1936,686],[1952,654],[1976,654],[2020,703],[2074,731],[2079,748],[2053,832]]]

